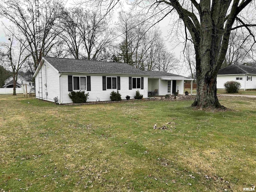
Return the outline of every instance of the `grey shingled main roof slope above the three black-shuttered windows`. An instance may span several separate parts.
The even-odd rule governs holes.
[[[148,76],[126,63],[44,57],[59,72],[86,74],[127,74]]]

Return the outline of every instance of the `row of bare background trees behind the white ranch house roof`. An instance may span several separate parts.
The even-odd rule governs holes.
[[[178,68],[161,31],[148,30],[150,24],[138,14],[121,11],[110,25],[99,12],[64,8],[59,0],[39,1],[38,10],[35,0],[7,0],[0,16],[11,22],[4,26],[9,40],[1,42],[0,56],[14,81],[22,68],[33,73],[42,56],[125,62],[141,70]]]

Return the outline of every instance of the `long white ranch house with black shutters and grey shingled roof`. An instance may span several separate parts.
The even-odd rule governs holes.
[[[183,94],[184,79],[165,72],[145,72],[126,63],[43,57],[34,73],[36,98],[58,103],[71,103],[71,91],[89,93],[88,102],[110,100],[110,93],[119,91],[122,99],[134,98],[136,90],[154,95]],[[188,79],[190,80],[190,79]],[[149,90],[149,91],[148,91]]]

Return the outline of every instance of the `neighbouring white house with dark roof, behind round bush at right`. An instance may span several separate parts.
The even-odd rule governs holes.
[[[240,82],[240,89],[256,89],[256,67],[230,65],[218,71],[217,89],[224,89],[227,81]]]

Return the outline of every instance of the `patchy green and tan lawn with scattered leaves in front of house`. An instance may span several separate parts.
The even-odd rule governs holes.
[[[256,100],[219,99],[231,110],[0,95],[0,191],[242,191],[256,184]]]

